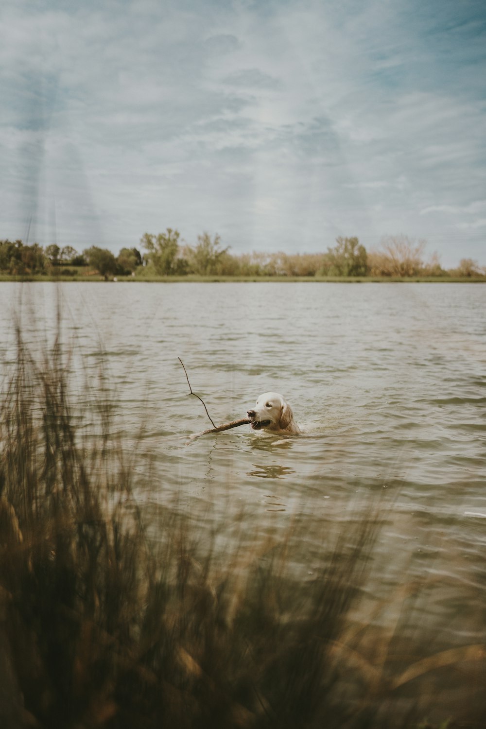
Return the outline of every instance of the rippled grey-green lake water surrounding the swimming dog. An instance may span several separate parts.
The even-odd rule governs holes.
[[[103,359],[117,429],[140,453],[146,512],[173,502],[243,544],[299,523],[295,570],[306,580],[320,545],[380,499],[364,623],[393,629],[415,585],[407,629],[430,623],[430,652],[485,642],[486,286],[0,284],[2,368],[12,312],[26,338],[49,340],[58,295],[73,369],[95,381]],[[189,440],[211,423],[178,357],[216,424],[272,390],[303,434],[243,426]],[[477,687],[450,682],[455,712]]]

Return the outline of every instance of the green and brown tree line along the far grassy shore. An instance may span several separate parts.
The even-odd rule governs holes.
[[[72,246],[53,243],[45,249],[38,243],[0,241],[0,273],[14,276],[36,274],[75,275],[85,273],[110,276],[486,276],[486,267],[470,258],[458,268],[444,270],[439,256],[426,259],[426,241],[407,235],[388,235],[380,247],[367,251],[358,238],[336,239],[326,252],[313,254],[258,253],[234,255],[222,247],[219,235],[203,233],[197,244],[181,241],[179,230],[144,233],[142,253],[138,248],[122,248],[115,256],[108,249],[90,246],[79,254]],[[70,269],[69,267],[75,267]]]

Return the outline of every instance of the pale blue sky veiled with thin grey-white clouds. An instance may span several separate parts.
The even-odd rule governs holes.
[[[484,0],[2,0],[0,238],[486,264]]]

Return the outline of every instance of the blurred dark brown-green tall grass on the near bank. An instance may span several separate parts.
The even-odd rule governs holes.
[[[2,728],[389,729],[440,716],[417,678],[481,655],[417,660],[430,629],[406,638],[404,606],[391,634],[376,614],[356,621],[379,504],[325,535],[312,580],[292,567],[305,524],[224,554],[175,508],[151,529],[136,499],[151,476],[136,483],[136,449],[112,436],[103,381],[86,419],[73,405],[68,364],[59,338],[34,356],[17,328],[0,410]],[[416,592],[404,580],[400,599]],[[478,665],[477,677],[484,655]]]

